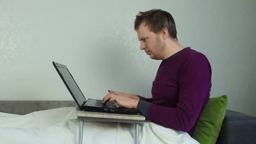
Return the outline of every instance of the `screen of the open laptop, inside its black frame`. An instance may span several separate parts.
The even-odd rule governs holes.
[[[76,84],[75,80],[72,78],[72,75],[69,73],[69,70],[67,68],[63,68],[56,65],[59,72],[61,73],[64,81],[66,82],[66,85],[69,87],[69,92],[74,97],[74,99],[79,103],[79,106],[83,104],[84,101],[86,101],[84,95],[80,91],[78,85]],[[65,66],[66,67],[66,66]],[[64,82],[64,83],[65,83]]]

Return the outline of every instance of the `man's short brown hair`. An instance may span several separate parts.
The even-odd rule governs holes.
[[[141,23],[145,23],[145,26],[149,26],[149,29],[154,33],[159,33],[162,28],[166,27],[171,39],[177,39],[177,31],[173,17],[170,13],[153,9],[145,12],[139,12],[136,15],[134,22],[134,29],[138,31]]]

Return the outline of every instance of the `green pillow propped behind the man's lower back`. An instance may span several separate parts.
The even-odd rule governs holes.
[[[193,138],[200,144],[215,144],[226,114],[227,95],[210,98],[195,125]]]

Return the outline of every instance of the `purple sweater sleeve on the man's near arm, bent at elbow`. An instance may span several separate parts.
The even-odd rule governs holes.
[[[206,56],[201,53],[191,55],[181,68],[179,93],[175,108],[151,103],[146,120],[178,131],[190,131],[203,107],[211,79],[211,68]]]

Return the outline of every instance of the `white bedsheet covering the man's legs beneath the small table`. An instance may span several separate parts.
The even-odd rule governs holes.
[[[0,112],[0,144],[78,144],[75,108],[56,108],[27,115]],[[199,144],[186,132],[144,122],[140,144]],[[134,144],[135,124],[84,121],[83,144]]]

